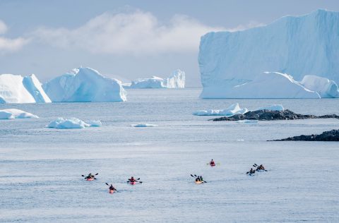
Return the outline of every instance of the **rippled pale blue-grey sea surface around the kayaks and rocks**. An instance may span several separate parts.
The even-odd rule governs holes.
[[[192,115],[236,102],[339,114],[338,99],[127,91],[127,102],[0,104],[40,116],[0,120],[0,222],[339,222],[339,143],[267,141],[338,129],[338,119],[237,123]],[[102,127],[47,128],[57,117]],[[210,159],[218,165],[207,165]],[[254,163],[268,171],[246,175]],[[99,173],[96,181],[81,177],[90,172]],[[207,183],[196,185],[191,174]],[[143,183],[129,185],[130,176]],[[105,183],[119,192],[109,194]]]

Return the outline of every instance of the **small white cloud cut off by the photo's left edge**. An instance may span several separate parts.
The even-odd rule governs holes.
[[[0,35],[4,35],[7,32],[7,25],[0,20]],[[0,54],[6,52],[14,52],[21,49],[29,40],[26,40],[23,37],[18,37],[16,39],[9,39],[6,37],[0,36]]]

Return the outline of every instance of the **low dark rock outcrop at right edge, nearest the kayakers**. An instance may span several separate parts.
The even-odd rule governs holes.
[[[295,137],[283,138],[273,141],[339,141],[339,129],[325,131],[319,135],[299,135]]]

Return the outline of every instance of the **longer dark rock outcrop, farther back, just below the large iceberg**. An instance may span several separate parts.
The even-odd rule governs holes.
[[[313,114],[296,114],[288,109],[284,111],[272,110],[257,110],[248,111],[245,114],[234,114],[229,117],[220,117],[217,119],[210,119],[212,121],[239,121],[239,120],[258,120],[258,121],[272,121],[272,120],[294,120],[294,119],[339,119],[336,114],[326,114],[323,116],[315,116]]]

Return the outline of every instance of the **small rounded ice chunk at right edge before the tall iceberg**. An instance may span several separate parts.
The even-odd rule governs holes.
[[[307,75],[300,83],[305,88],[318,92],[321,97],[339,97],[338,85],[328,78]]]

